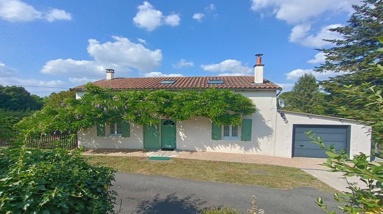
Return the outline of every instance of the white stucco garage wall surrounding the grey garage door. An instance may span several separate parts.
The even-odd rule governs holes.
[[[286,121],[280,114],[277,115],[277,131],[275,141],[275,156],[291,157],[293,146],[293,125],[294,124],[315,124],[315,125],[350,125],[350,156],[363,152],[371,153],[371,129],[359,124],[357,121],[331,118],[303,113],[292,113],[283,111]]]

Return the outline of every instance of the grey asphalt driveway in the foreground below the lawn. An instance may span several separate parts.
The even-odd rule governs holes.
[[[197,213],[202,208],[234,207],[246,212],[251,196],[266,213],[324,213],[315,203],[321,196],[330,208],[337,204],[332,195],[313,188],[278,190],[261,186],[237,185],[117,172],[113,190],[120,213]],[[120,209],[121,205],[121,209]]]

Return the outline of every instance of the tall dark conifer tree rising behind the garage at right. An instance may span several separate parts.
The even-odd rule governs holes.
[[[324,106],[324,114],[341,116],[337,111],[339,106],[347,106],[350,109],[365,108],[362,103],[355,103],[353,97],[345,96],[344,85],[360,85],[371,82],[376,86],[383,87],[381,79],[371,72],[372,63],[381,63],[383,52],[375,51],[383,45],[378,37],[383,36],[383,1],[365,0],[361,6],[353,5],[354,13],[347,21],[348,25],[330,31],[338,32],[343,38],[326,40],[334,44],[327,49],[318,49],[325,53],[325,63],[316,68],[317,72],[346,72],[343,75],[331,77],[327,81],[320,82],[326,96],[327,106]]]

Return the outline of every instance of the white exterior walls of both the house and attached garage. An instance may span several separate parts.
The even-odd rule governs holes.
[[[281,157],[292,157],[293,124],[332,124],[351,126],[351,154],[364,152],[370,154],[371,136],[367,129],[358,122],[324,116],[311,116],[300,113],[284,112],[286,123],[277,113],[276,90],[237,90],[254,101],[258,111],[246,116],[252,119],[251,141],[212,140],[211,121],[207,118],[194,117],[176,123],[176,144],[179,150],[210,151],[243,154],[262,154]],[[77,98],[83,92],[77,92]],[[125,148],[143,149],[143,126],[130,124],[130,137],[98,137],[96,127],[78,132],[79,145],[85,148]]]

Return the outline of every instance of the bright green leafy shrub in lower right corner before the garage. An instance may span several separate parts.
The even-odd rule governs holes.
[[[371,163],[368,161],[370,155],[354,155],[351,159],[345,150],[338,152],[333,145],[327,147],[320,137],[315,138],[311,131],[306,134],[313,140],[313,143],[320,145],[326,150],[327,162],[323,166],[330,168],[330,172],[341,172],[347,177],[356,176],[366,183],[365,188],[359,188],[355,183],[348,183],[350,192],[335,194],[334,199],[340,203],[338,209],[345,213],[383,213],[383,163]],[[346,179],[347,181],[347,179]],[[336,211],[329,211],[322,198],[317,198],[317,204],[327,213],[336,214]]]

